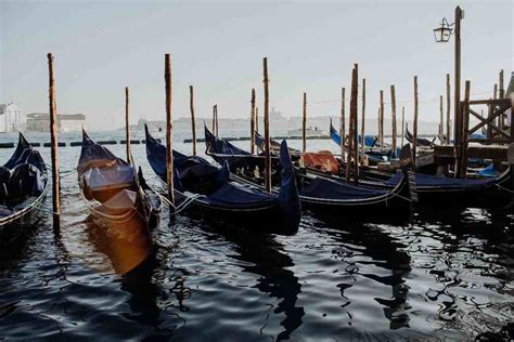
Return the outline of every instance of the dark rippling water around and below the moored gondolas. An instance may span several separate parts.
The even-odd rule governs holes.
[[[136,161],[155,183],[143,148],[133,146]],[[112,149],[123,156],[124,146]],[[78,154],[62,149],[62,171]],[[0,339],[471,339],[513,317],[513,218],[502,213],[448,208],[406,225],[307,213],[297,235],[282,237],[169,223],[165,212],[154,256],[121,276],[75,174],[62,192],[61,231],[46,218],[0,254]]]

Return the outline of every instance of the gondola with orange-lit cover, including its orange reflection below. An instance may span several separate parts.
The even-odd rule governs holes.
[[[94,143],[82,130],[77,167],[80,194],[90,210],[88,220],[105,229],[118,246],[137,246],[138,258],[126,258],[123,272],[138,266],[152,252],[151,232],[160,220],[162,200],[145,184],[141,169]],[[130,264],[129,264],[130,263]]]

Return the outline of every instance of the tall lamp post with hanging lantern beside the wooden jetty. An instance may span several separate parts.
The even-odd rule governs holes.
[[[438,28],[434,29],[434,37],[436,42],[448,42],[450,41],[451,35],[455,36],[455,70],[454,70],[454,129],[453,129],[453,146],[455,148],[455,156],[461,156],[461,141],[462,141],[462,116],[461,116],[461,21],[464,18],[464,11],[460,8],[455,8],[455,22],[449,24],[446,18],[442,18],[441,24]],[[454,32],[453,32],[454,26]]]

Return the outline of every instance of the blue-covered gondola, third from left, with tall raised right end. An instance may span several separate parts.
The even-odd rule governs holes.
[[[145,133],[150,166],[166,182],[166,147],[150,134],[147,127]],[[250,232],[295,234],[301,215],[300,202],[285,142],[281,150],[282,182],[277,194],[232,180],[227,165],[219,168],[204,158],[174,150],[177,208],[187,208],[192,215]]]

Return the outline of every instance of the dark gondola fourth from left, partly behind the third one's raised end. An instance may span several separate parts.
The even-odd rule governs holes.
[[[261,159],[260,156],[248,155],[245,150],[216,137],[207,128],[205,128],[205,142],[208,156],[221,165],[232,163],[230,169],[235,174],[234,177],[247,183],[260,184],[260,180],[253,175],[253,170],[256,167],[255,160]],[[244,167],[244,162],[247,167]],[[274,172],[272,177],[275,183],[280,181],[277,175],[278,172]],[[411,187],[409,179],[403,174],[400,176],[400,182],[390,190],[343,184],[298,168],[295,175],[301,208],[314,213],[368,219],[410,212]]]

